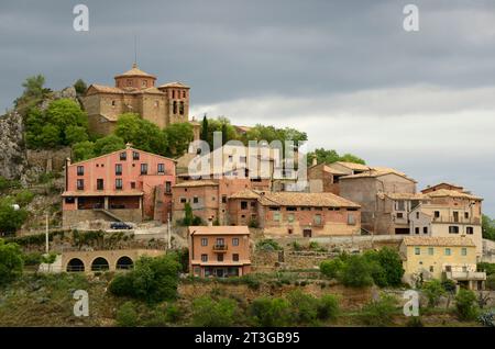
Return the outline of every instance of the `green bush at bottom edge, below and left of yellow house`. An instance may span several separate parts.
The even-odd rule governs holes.
[[[397,308],[397,300],[388,294],[382,294],[380,300],[372,301],[363,306],[360,318],[369,326],[389,326],[392,316]]]

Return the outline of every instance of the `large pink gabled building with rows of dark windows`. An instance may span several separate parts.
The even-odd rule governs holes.
[[[175,184],[173,159],[130,145],[65,170],[63,225],[81,221],[166,222]]]

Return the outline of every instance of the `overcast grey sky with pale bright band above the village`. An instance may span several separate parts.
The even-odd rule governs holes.
[[[75,32],[73,8],[89,8]],[[419,32],[403,9],[419,8]],[[495,1],[6,1],[0,108],[28,76],[112,85],[134,60],[191,87],[191,114],[292,126],[309,148],[449,181],[495,216]]]

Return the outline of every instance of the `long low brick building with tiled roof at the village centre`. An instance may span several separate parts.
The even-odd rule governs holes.
[[[332,193],[243,190],[229,198],[229,223],[257,225],[266,235],[361,234],[360,205]]]

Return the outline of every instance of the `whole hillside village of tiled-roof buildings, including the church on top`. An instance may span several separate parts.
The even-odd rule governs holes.
[[[121,116],[132,113],[161,130],[187,124],[188,140],[207,140],[204,124],[189,117],[190,88],[158,85],[136,64],[116,76],[114,86],[92,83],[77,100],[90,134],[112,137]],[[240,134],[251,130],[233,127]],[[393,251],[402,267],[395,284],[420,289],[442,280],[457,292],[487,289],[487,272],[480,264],[493,262],[495,246],[482,236],[483,198],[448,182],[447,174],[446,182],[417,188],[400,169],[319,164],[317,158],[302,179],[287,170],[278,149],[264,146],[223,144],[201,154],[193,142],[177,156],[130,142],[107,149],[87,156],[74,148],[29,153],[46,173],[59,172],[59,190],[51,192],[59,224],[46,215],[46,227],[4,235],[31,252],[45,252],[37,271],[125,273],[147,257],[180,251],[182,274],[190,280],[295,270],[326,273],[330,280],[345,273],[339,263],[345,266],[353,256]],[[220,166],[213,158],[221,159]],[[193,164],[207,166],[193,176]],[[97,236],[95,241],[90,236]],[[373,271],[365,272],[374,280],[364,285],[380,285]]]

